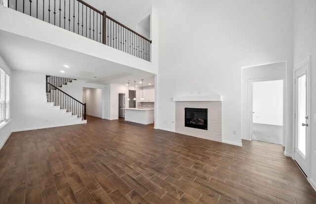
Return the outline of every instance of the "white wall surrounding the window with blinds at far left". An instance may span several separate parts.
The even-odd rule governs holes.
[[[9,66],[5,63],[5,61],[3,60],[3,58],[0,55],[0,68],[8,75],[8,76],[12,76],[11,75],[11,69],[9,68]],[[12,78],[10,78],[10,87],[12,85]],[[10,89],[10,102],[12,104],[12,88]],[[12,106],[10,107],[10,111],[11,111],[11,119],[12,119]],[[2,124],[0,125],[0,149],[2,148],[2,146],[4,145],[5,141],[7,140],[7,138],[10,136],[11,134],[11,121],[7,122],[6,124]],[[3,126],[4,125],[4,126]]]

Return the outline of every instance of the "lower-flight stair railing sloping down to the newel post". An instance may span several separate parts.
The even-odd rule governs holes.
[[[47,102],[53,102],[54,106],[60,106],[61,109],[66,109],[66,112],[71,112],[72,115],[77,115],[78,118],[86,120],[86,103],[81,103],[50,82],[46,81],[46,87],[49,89]]]

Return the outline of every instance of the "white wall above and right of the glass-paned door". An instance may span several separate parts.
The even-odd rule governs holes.
[[[316,189],[316,0],[294,0],[294,68],[309,55],[310,73],[310,169],[309,180]],[[293,123],[294,125],[294,123]],[[292,152],[292,151],[291,151]],[[290,153],[291,153],[290,152]]]

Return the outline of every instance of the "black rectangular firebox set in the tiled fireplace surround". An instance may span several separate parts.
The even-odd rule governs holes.
[[[207,108],[185,108],[184,126],[207,130]]]

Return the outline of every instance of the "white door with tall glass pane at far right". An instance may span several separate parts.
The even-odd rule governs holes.
[[[309,141],[309,73],[308,63],[295,71],[295,146],[294,159],[308,173]]]

